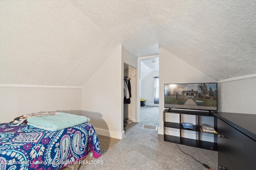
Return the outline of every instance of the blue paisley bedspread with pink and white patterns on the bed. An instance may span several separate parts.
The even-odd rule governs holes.
[[[90,152],[100,157],[100,142],[89,122],[59,131],[0,124],[1,170],[57,170]]]

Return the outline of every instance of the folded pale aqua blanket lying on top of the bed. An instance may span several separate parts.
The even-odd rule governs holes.
[[[48,131],[58,131],[67,127],[79,125],[90,121],[90,118],[70,113],[58,113],[56,115],[46,115],[40,117],[29,117],[28,125],[46,129]]]

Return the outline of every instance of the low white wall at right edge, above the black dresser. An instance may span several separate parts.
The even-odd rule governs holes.
[[[256,114],[256,74],[218,82],[218,111]]]

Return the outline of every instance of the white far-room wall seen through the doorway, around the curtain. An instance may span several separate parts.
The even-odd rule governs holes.
[[[140,98],[146,99],[147,106],[159,106],[154,104],[154,78],[158,77],[159,71],[154,71],[144,79],[140,80]]]

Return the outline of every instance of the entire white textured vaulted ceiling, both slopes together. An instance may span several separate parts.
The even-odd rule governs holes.
[[[216,81],[255,74],[256,1],[0,1],[1,84],[82,86],[119,44]]]

